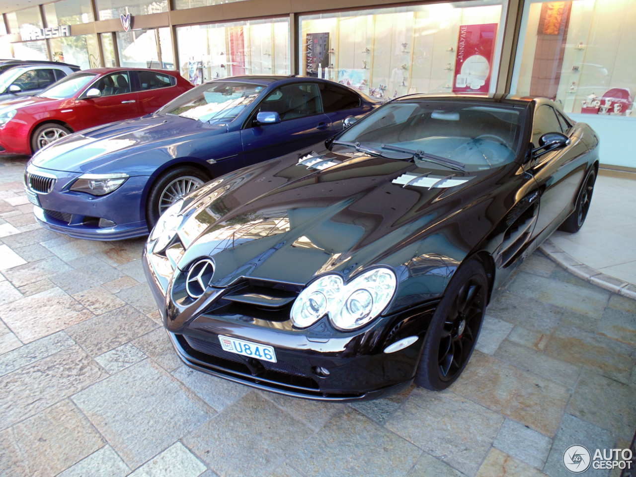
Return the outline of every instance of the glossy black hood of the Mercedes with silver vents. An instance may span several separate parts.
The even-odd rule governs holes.
[[[332,271],[346,279],[380,263],[397,271],[424,252],[434,252],[438,266],[456,266],[492,223],[476,225],[471,236],[458,233],[457,224],[453,229],[455,216],[506,187],[501,178],[519,170],[511,163],[457,172],[432,163],[324,153],[321,160],[342,163],[315,170],[297,164],[302,157],[293,154],[196,191],[184,203],[179,268],[213,257],[212,285],[223,287],[247,277],[305,285]]]

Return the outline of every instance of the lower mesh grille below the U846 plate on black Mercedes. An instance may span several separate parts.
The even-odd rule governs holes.
[[[204,359],[204,361],[211,365],[221,366],[228,370],[233,370],[240,373],[251,374],[249,366],[246,361],[253,358],[245,358],[240,354],[228,353],[218,343],[210,341],[200,340],[191,336],[183,335],[185,341],[193,351],[202,353],[205,356],[209,356],[216,359]],[[199,356],[201,358],[202,356]],[[302,386],[317,389],[318,385],[314,379],[303,373],[300,369],[294,365],[290,365],[284,361],[278,361],[277,363],[270,363],[269,361],[262,361],[261,359],[254,359],[265,368],[258,376],[265,379],[274,380],[280,382],[280,384],[287,384],[289,386]],[[257,375],[255,375],[256,377]]]

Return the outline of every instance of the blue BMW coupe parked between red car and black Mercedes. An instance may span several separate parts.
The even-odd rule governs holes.
[[[144,236],[212,178],[324,141],[378,105],[317,78],[210,81],[154,114],[44,147],[27,164],[26,190],[47,229],[95,240]]]

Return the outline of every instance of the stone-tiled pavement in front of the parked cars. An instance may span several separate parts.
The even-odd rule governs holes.
[[[23,168],[0,161],[1,476],[560,477],[569,445],[633,436],[636,301],[540,253],[488,307],[447,391],[314,403],[183,366],[144,240],[39,228]]]

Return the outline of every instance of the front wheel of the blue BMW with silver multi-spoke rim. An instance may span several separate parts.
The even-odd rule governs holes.
[[[146,222],[152,230],[162,212],[188,192],[194,191],[210,177],[192,166],[177,166],[156,178],[146,200]]]

